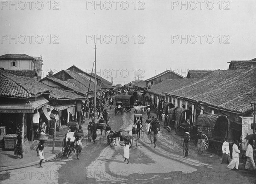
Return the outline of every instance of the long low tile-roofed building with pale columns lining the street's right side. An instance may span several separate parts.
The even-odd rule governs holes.
[[[242,123],[252,128],[250,102],[256,98],[256,68],[212,71],[203,78],[173,79],[152,88],[175,107],[192,110],[191,125],[199,114],[221,114],[228,119],[227,136],[240,139]],[[151,89],[152,90],[152,89]]]

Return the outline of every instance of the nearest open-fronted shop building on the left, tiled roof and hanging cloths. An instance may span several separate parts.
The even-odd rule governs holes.
[[[20,130],[23,142],[34,141],[43,122],[46,125],[44,132],[49,133],[54,121],[60,126],[61,118],[66,120],[65,123],[74,117],[77,119],[77,112],[81,111],[85,100],[84,96],[72,91],[51,88],[36,79],[2,70],[0,87],[0,125],[6,126],[8,134]]]

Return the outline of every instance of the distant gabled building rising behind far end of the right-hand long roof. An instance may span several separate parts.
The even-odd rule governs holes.
[[[174,71],[171,70],[166,70],[162,72],[161,74],[158,74],[156,76],[153,76],[149,79],[146,79],[145,82],[147,83],[147,87],[156,85],[166,79],[183,79],[185,77],[181,76],[180,74],[175,73]]]

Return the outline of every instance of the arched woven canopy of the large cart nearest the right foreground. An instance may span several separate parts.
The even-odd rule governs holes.
[[[227,117],[217,114],[201,114],[195,123],[197,130],[201,130],[209,139],[223,140],[227,132]]]

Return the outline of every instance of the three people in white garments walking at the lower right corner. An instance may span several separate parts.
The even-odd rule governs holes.
[[[230,148],[229,148],[229,142],[228,139],[225,138],[225,142],[222,144],[222,161],[221,164],[228,164],[227,168],[231,170],[238,170],[239,166],[239,153],[241,151],[239,150],[239,142],[238,140],[234,141],[233,147],[232,147],[232,159],[230,157]],[[245,170],[256,170],[255,163],[253,160],[253,140],[249,140],[247,143],[247,149],[245,152],[245,156],[247,157],[246,163],[245,163]]]

